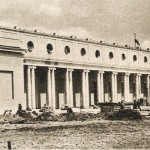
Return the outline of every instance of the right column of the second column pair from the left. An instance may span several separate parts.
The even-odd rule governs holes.
[[[55,70],[56,68],[52,69],[52,107],[56,108],[56,89],[55,89]]]

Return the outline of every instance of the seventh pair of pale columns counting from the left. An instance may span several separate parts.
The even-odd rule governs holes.
[[[129,75],[130,73],[125,73],[124,75],[124,100],[129,101]]]

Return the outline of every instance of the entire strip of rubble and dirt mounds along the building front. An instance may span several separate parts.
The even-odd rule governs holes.
[[[7,116],[7,115],[6,115]],[[108,120],[141,120],[143,115],[139,111],[131,109],[123,109],[110,113],[101,113],[99,107],[85,108],[63,108],[53,110],[50,107],[44,106],[40,110],[31,110],[27,108],[22,110],[19,104],[17,113],[0,117],[0,124],[31,124],[39,121],[86,121],[92,119],[108,119]]]

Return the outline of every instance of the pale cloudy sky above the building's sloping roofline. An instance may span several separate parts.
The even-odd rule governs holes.
[[[150,47],[150,0],[0,0],[0,25]]]

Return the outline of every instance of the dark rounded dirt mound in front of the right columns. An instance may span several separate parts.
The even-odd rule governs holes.
[[[135,110],[127,109],[114,112],[107,116],[108,120],[142,120],[143,116]]]

